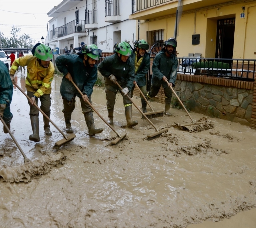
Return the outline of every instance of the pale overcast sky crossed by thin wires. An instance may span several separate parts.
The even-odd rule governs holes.
[[[62,0],[0,0],[0,31],[11,37],[12,25],[21,28],[19,35],[28,34],[35,43],[47,36],[47,13]],[[49,28],[49,25],[48,25]]]

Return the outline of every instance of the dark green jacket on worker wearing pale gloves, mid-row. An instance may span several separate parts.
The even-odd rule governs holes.
[[[109,77],[110,74],[115,75],[117,82],[124,88],[127,87],[129,91],[132,90],[134,81],[134,62],[129,57],[126,62],[123,62],[115,53],[112,56],[107,56],[98,65],[98,70],[104,77]],[[117,87],[116,84],[108,81],[109,85]]]

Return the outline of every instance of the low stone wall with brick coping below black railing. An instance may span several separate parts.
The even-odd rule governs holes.
[[[188,111],[238,122],[256,129],[254,82],[178,74],[174,89]],[[134,94],[139,95],[139,92],[135,89]],[[162,87],[156,100],[165,103]],[[180,107],[174,95],[172,103],[175,107]]]

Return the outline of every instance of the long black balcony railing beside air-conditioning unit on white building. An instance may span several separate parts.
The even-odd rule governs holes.
[[[85,30],[85,20],[74,20],[50,31],[50,40],[67,36],[71,33],[83,33]]]

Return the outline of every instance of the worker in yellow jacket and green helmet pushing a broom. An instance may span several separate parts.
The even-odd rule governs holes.
[[[10,76],[14,80],[13,75],[19,66],[27,66],[26,89],[27,95],[31,98],[28,103],[30,105],[29,115],[33,131],[33,134],[29,136],[29,140],[39,142],[39,110],[34,104],[38,104],[38,99],[40,99],[40,108],[50,118],[50,94],[54,66],[50,61],[52,59],[52,51],[49,46],[37,43],[32,49],[32,54],[15,59],[10,69]],[[43,116],[43,119],[45,134],[51,136],[49,120],[45,116]]]

